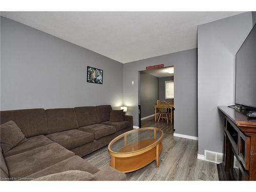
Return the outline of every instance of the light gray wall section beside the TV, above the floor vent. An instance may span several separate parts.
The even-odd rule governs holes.
[[[234,103],[236,52],[251,28],[251,12],[198,26],[199,154],[222,153],[223,116],[217,107]]]

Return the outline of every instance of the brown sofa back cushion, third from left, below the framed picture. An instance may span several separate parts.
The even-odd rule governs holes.
[[[96,106],[79,106],[75,112],[79,127],[100,123]]]

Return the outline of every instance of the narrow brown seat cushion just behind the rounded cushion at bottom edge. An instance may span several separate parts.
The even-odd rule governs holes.
[[[39,172],[27,176],[27,178],[34,179],[59,172],[66,172],[67,170],[81,170],[91,174],[95,174],[99,171],[97,167],[88,163],[86,160],[83,160],[81,157],[73,156],[45,169],[39,170]]]

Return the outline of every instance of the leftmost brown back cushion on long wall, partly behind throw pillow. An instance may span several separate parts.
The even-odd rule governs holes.
[[[13,120],[25,137],[44,135],[48,132],[44,109],[1,111],[1,123]]]

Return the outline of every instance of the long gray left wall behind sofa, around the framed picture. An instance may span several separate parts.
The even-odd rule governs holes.
[[[86,82],[87,66],[103,84]],[[122,63],[1,17],[1,110],[122,105]]]

